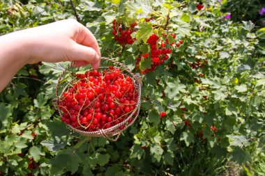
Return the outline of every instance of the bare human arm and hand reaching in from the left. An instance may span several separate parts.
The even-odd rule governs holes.
[[[100,65],[100,49],[93,34],[74,19],[0,36],[0,92],[17,71],[29,63],[77,61],[75,66]]]

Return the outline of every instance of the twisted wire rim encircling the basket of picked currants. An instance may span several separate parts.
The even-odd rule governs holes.
[[[77,132],[78,134],[82,134],[83,136],[105,137],[105,138],[109,138],[112,141],[116,141],[119,138],[121,131],[130,127],[132,123],[135,122],[137,116],[139,115],[139,109],[141,105],[141,93],[142,93],[142,90],[141,90],[142,89],[142,76],[140,74],[134,74],[130,72],[130,70],[128,69],[126,65],[124,65],[123,63],[119,63],[118,61],[115,61],[113,58],[101,57],[101,59],[106,60],[106,61],[111,61],[115,65],[119,65],[120,67],[123,67],[123,69],[126,70],[126,72],[130,74],[130,76],[132,77],[132,80],[134,81],[135,88],[137,89],[137,103],[136,103],[135,109],[132,111],[132,113],[130,113],[130,115],[125,120],[107,129],[99,129],[98,131],[82,131],[79,129],[75,129],[71,125],[67,125],[67,127],[70,130]],[[75,63],[71,63],[70,65],[68,65],[68,67],[66,67],[66,69],[60,74],[58,83],[56,86],[56,97],[57,97],[56,104],[57,104],[59,115],[61,116],[61,118],[62,118],[62,114],[61,114],[61,110],[59,109],[59,102],[60,102],[61,95],[59,95],[59,87],[61,85],[61,79],[63,75],[66,74],[66,71],[70,67],[72,67],[74,64]],[[104,68],[108,68],[108,67],[99,67],[99,69],[104,69]],[[64,88],[63,90],[65,89],[66,88]],[[132,120],[128,122],[128,120],[130,119]],[[124,128],[119,129],[119,127],[121,127],[122,125],[124,125]],[[111,138],[112,136],[116,136],[116,138]]]

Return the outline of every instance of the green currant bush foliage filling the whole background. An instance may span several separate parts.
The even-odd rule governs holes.
[[[0,94],[0,175],[221,175],[230,161],[245,175],[264,175],[265,29],[223,19],[233,1],[202,3],[198,11],[189,0],[1,1],[1,35],[78,17],[102,55],[133,72],[148,38],[141,31],[153,32],[143,22],[152,13],[163,20],[170,11],[169,31],[184,44],[144,75],[141,113],[115,143],[79,136],[60,121],[54,89],[68,63],[23,67]],[[142,22],[139,42],[114,41],[118,18]],[[192,68],[198,61],[204,66]]]

